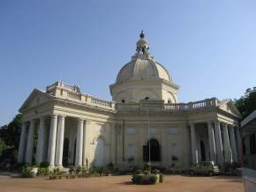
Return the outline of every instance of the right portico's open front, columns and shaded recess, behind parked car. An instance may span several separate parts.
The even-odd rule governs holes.
[[[235,130],[237,127],[217,120],[190,124],[192,163],[215,161],[238,162]]]

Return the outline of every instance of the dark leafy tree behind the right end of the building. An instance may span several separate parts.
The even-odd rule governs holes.
[[[246,116],[256,110],[256,87],[246,89],[245,95],[239,100],[235,100],[235,104],[245,119]]]

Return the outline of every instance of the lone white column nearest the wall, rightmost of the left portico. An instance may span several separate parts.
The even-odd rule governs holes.
[[[78,129],[77,129],[77,149],[76,149],[75,166],[82,166],[82,159],[83,159],[83,127],[84,127],[84,121],[79,119]]]

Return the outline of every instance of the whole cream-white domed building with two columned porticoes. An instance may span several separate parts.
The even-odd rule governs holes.
[[[112,101],[63,82],[34,89],[19,109],[19,162],[48,161],[50,167],[112,162],[121,169],[148,160],[180,169],[203,160],[220,166],[239,162],[240,113],[232,100],[179,102],[179,86],[150,55],[144,33],[136,46],[109,86]]]

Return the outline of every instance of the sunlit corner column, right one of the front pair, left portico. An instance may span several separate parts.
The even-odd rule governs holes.
[[[56,166],[62,167],[64,147],[64,116],[59,116],[59,123],[56,136]]]

